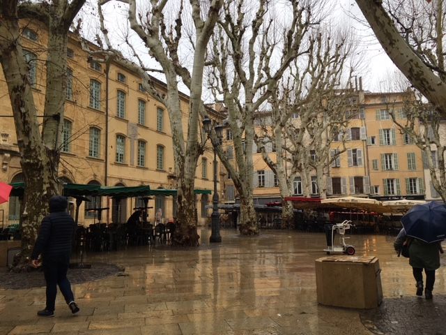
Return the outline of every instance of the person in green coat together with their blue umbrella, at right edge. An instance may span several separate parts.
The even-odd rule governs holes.
[[[442,202],[420,204],[401,218],[403,228],[394,242],[394,248],[401,251],[408,246],[409,264],[413,269],[416,295],[423,295],[423,269],[426,274],[426,299],[432,299],[436,269],[440,267],[441,241],[446,238],[446,205]]]

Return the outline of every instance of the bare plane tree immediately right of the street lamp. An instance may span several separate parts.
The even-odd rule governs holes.
[[[281,19],[274,1],[227,1],[214,35],[215,68],[210,87],[228,111],[235,165],[220,153],[240,196],[240,233],[259,234],[254,211],[252,161],[254,119],[277,89],[290,64],[309,53],[312,29],[323,20],[325,1],[283,1]],[[289,19],[288,21],[286,19]]]

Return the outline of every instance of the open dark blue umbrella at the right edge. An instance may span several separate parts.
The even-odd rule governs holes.
[[[401,218],[406,234],[427,243],[446,238],[446,205],[443,202],[426,202],[412,207]]]

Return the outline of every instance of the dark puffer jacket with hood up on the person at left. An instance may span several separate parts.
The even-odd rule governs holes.
[[[65,210],[68,202],[65,197],[54,195],[49,200],[49,215],[45,216],[34,246],[31,259],[40,254],[45,258],[70,256],[76,224]]]

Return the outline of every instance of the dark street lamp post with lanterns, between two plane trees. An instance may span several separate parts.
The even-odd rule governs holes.
[[[223,126],[219,124],[213,123],[208,116],[203,118],[203,128],[208,134],[208,138],[213,146],[214,151],[214,195],[212,198],[212,215],[211,218],[211,229],[212,232],[210,234],[209,241],[210,242],[221,242],[222,237],[220,236],[220,214],[218,212],[218,192],[217,192],[217,147],[222,144],[223,138]],[[217,135],[218,142],[213,141],[213,137],[210,135],[212,130],[215,130],[215,134]]]

